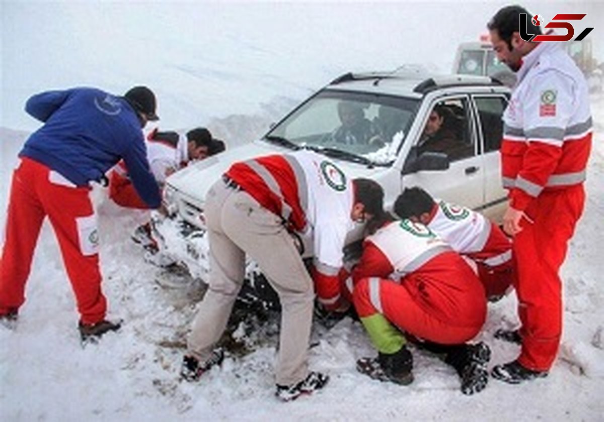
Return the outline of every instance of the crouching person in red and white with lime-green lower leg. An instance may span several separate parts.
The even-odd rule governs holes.
[[[412,382],[413,356],[404,332],[425,341],[419,342],[422,347],[444,354],[459,374],[464,394],[481,391],[489,379],[489,347],[465,344],[486,318],[477,275],[422,223],[394,221],[382,213],[369,225],[378,222],[381,227],[365,238],[350,276],[356,311],[379,351],[375,358],[360,359],[357,369],[375,379]]]

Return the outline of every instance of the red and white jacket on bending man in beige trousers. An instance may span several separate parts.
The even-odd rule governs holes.
[[[342,266],[354,192],[352,180],[320,154],[297,151],[235,163],[226,172],[288,228],[312,236],[313,279],[319,301],[339,306]]]

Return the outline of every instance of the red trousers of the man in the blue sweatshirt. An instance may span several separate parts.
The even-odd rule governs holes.
[[[34,248],[48,216],[81,321],[94,324],[104,319],[107,304],[101,292],[97,218],[89,191],[89,187],[75,187],[45,165],[27,157],[21,160],[13,174],[0,258],[0,313],[19,309],[25,301]]]

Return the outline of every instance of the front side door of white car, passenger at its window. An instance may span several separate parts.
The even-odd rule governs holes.
[[[457,135],[457,144],[451,148],[439,146],[437,153],[448,153],[449,168],[441,171],[417,171],[402,176],[402,187],[421,186],[432,197],[441,198],[455,204],[478,208],[484,203],[484,168],[478,148],[475,113],[468,95],[447,96],[435,99],[429,113],[423,116],[424,131],[431,118],[432,111],[446,107],[453,116],[449,116],[450,129]],[[419,151],[432,152],[422,148],[424,133],[417,136],[414,145]]]

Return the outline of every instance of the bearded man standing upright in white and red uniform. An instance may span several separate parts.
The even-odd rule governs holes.
[[[586,165],[592,121],[585,77],[557,42],[522,40],[540,34],[526,10],[504,7],[487,25],[499,60],[518,76],[504,113],[501,171],[510,203],[504,230],[513,236],[518,268],[522,351],[493,368],[509,383],[544,377],[562,333],[559,268],[585,204]]]

